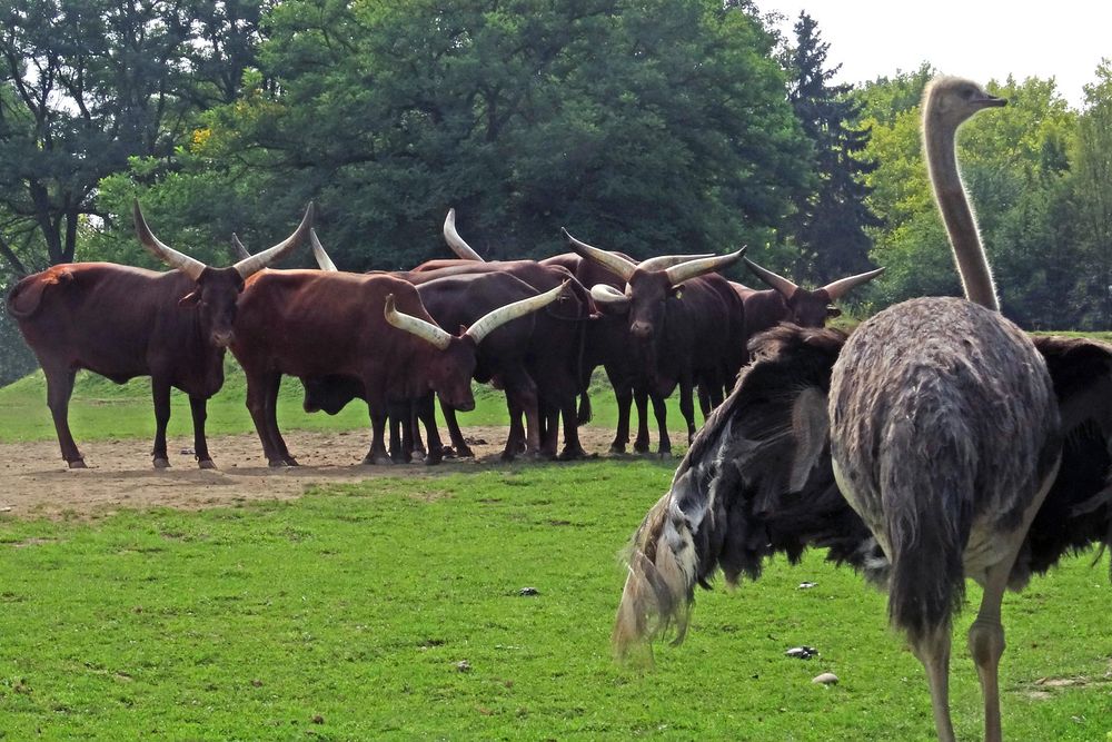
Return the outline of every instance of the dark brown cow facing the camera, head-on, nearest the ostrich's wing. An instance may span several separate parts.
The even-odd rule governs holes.
[[[712,389],[709,403],[717,405],[726,379],[744,360],[744,347],[738,345],[744,307],[729,283],[714,271],[737,261],[745,248],[659,268],[655,259],[637,264],[580,243],[566,229],[563,234],[576,254],[625,280],[625,291],[598,284],[592,287],[592,297],[600,310],[627,317],[634,357],[649,388],[666,397],[679,386],[679,409],[691,442],[695,437],[695,384],[705,380]],[[704,416],[708,410],[704,407]],[[671,442],[662,437],[661,454],[671,451]]]

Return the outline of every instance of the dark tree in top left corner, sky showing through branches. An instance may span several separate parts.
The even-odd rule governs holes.
[[[0,256],[73,260],[101,178],[170,158],[198,105],[235,98],[259,2],[0,1]]]

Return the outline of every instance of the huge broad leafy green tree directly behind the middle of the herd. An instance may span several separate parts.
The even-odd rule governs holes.
[[[248,219],[318,198],[342,267],[443,257],[453,206],[487,257],[563,251],[560,225],[635,256],[756,245],[806,178],[773,37],[711,0],[289,0],[267,28],[191,151],[266,194]]]

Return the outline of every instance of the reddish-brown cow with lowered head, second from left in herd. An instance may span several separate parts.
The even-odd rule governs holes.
[[[454,336],[435,324],[411,284],[389,274],[258,274],[244,291],[231,352],[247,375],[247,406],[268,463],[297,465],[278,429],[282,374],[358,379],[373,426],[364,462],[389,463],[383,435],[388,405],[431,389],[451,407],[473,408],[479,343],[498,325],[554,300],[560,288],[502,307]]]

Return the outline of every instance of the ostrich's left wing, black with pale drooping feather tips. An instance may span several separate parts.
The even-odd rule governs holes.
[[[619,653],[673,622],[686,631],[696,583],[722,568],[756,578],[776,552],[807,546],[864,566],[875,543],[834,483],[826,395],[845,335],[782,325],[749,344],[755,360],[707,419],[628,555],[614,629]]]

